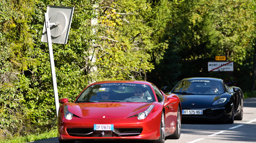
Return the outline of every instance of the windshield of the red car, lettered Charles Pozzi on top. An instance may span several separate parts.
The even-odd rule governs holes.
[[[84,102],[153,102],[149,85],[134,83],[104,83],[86,88],[76,100]]]

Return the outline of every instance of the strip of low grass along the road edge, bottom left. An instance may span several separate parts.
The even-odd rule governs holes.
[[[36,140],[44,140],[48,138],[57,137],[57,129],[50,130],[49,132],[43,134],[32,134],[24,137],[15,137],[10,140],[0,140],[0,143],[23,143],[23,142],[33,142]]]

